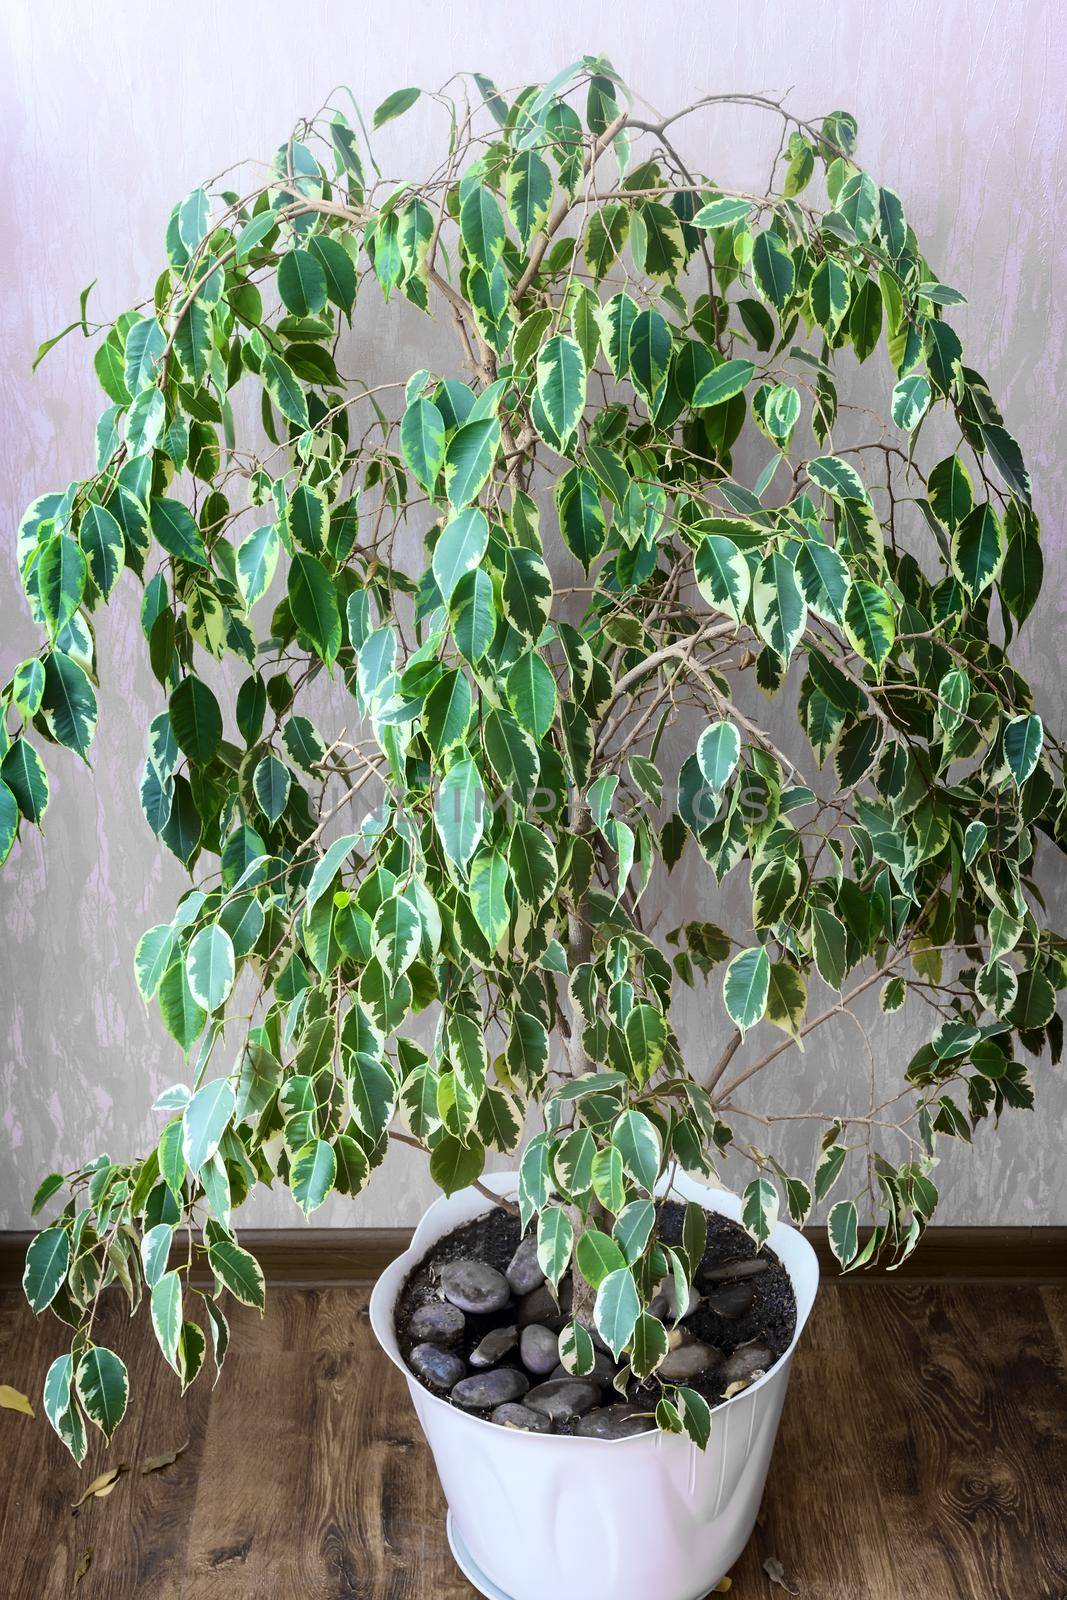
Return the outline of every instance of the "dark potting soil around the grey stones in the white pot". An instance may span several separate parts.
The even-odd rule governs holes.
[[[657,1206],[657,1237],[664,1245],[677,1245],[681,1240],[683,1214],[683,1206],[673,1200],[661,1202]],[[442,1269],[445,1269],[448,1262],[478,1261],[494,1267],[498,1272],[506,1272],[515,1250],[518,1248],[520,1237],[518,1218],[499,1206],[494,1206],[477,1218],[477,1221],[467,1222],[464,1227],[458,1227],[454,1232],[446,1234],[427,1251],[422,1261],[410,1272],[394,1312],[400,1354],[408,1366],[411,1366],[413,1349],[422,1342],[434,1342],[440,1349],[448,1350],[450,1355],[462,1360],[464,1373],[467,1376],[474,1376],[475,1373],[483,1373],[486,1370],[485,1366],[470,1366],[470,1354],[491,1330],[509,1328],[517,1322],[522,1322],[522,1296],[514,1294],[509,1304],[501,1310],[490,1314],[466,1312],[464,1325],[458,1336],[453,1333],[450,1338],[427,1341],[426,1333],[418,1326],[418,1320],[413,1328],[413,1318],[418,1318],[422,1307],[442,1306]],[[731,1264],[737,1266],[741,1262],[755,1264],[757,1261],[763,1262],[763,1266],[760,1270],[749,1269],[750,1275],[718,1277],[717,1269],[723,1269]],[[569,1274],[560,1285],[560,1296],[565,1309],[569,1302],[568,1278]],[[696,1376],[686,1376],[678,1381],[702,1394],[710,1406],[717,1406],[726,1398],[723,1389],[726,1381],[733,1376],[729,1357],[733,1357],[734,1350],[741,1349],[741,1355],[737,1357],[739,1362],[744,1362],[745,1357],[742,1347],[753,1344],[769,1349],[774,1362],[784,1355],[797,1326],[797,1301],[793,1298],[789,1274],[774,1251],[766,1248],[757,1251],[752,1238],[737,1222],[731,1222],[728,1218],[715,1213],[707,1213],[707,1245],[701,1267],[696,1274],[696,1288],[701,1296],[699,1304],[678,1323],[678,1328],[686,1344],[701,1342],[712,1346],[715,1350],[721,1352],[726,1362],[717,1362],[707,1371],[697,1373]],[[733,1296],[728,1291],[733,1291]],[[747,1291],[750,1291],[752,1298],[745,1306],[744,1301],[747,1299]],[[537,1293],[544,1296],[545,1291],[541,1290]],[[715,1299],[718,1299],[720,1304],[733,1315],[723,1315],[717,1310],[713,1304]],[[553,1331],[558,1331],[563,1320],[563,1317],[557,1317],[552,1322]],[[665,1320],[670,1326],[670,1320]],[[773,1365],[773,1362],[760,1365],[766,1370]],[[512,1368],[517,1373],[523,1373],[523,1363],[517,1346],[501,1355],[499,1360],[493,1362],[493,1370],[498,1368]],[[424,1387],[430,1389],[430,1392],[442,1395],[442,1398],[450,1398],[450,1392],[446,1389],[442,1389],[434,1382],[427,1382],[427,1379],[418,1371],[414,1371],[414,1376],[424,1384]],[[542,1384],[547,1374],[526,1373],[525,1376],[530,1379],[530,1386],[534,1387]],[[600,1408],[627,1405],[632,1411],[653,1411],[657,1397],[659,1384],[654,1379],[643,1387],[632,1382],[630,1390],[625,1398],[622,1398],[608,1378],[608,1381],[600,1386],[600,1400],[597,1405]],[[522,1398],[518,1403],[522,1405]],[[512,1419],[514,1411],[515,1406],[510,1405],[506,1418],[501,1418],[501,1421]],[[475,1410],[472,1414],[488,1418],[491,1414],[491,1408]],[[597,1411],[597,1414],[600,1416],[601,1413]],[[553,1434],[574,1434],[581,1430],[579,1422],[581,1419],[573,1416],[553,1418],[550,1430]],[[651,1416],[648,1426],[654,1426]]]

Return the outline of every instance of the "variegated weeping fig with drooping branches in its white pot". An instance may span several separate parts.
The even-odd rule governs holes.
[[[326,107],[174,208],[149,301],[94,326],[83,298],[107,406],[93,470],[19,528],[43,638],[3,690],[0,845],[42,822],[42,741],[88,758],[91,618],[130,568],[160,685],[142,808],[194,880],[136,973],[189,1069],[147,1155],[45,1179],[26,1291],[72,1330],[45,1410],[82,1459],[128,1398],[104,1290],[147,1301],[186,1387],[227,1296],[264,1302],[250,1190],[310,1216],[419,1146],[445,1198],[373,1315],[467,1570],[512,1600],[689,1600],[750,1531],[814,1294],[779,1206],[832,1202],[846,1269],[902,1259],[939,1139],[1032,1106],[1016,1045],[1061,1046],[1032,874],[1062,750],[1009,659],[1038,523],[963,296],[848,114],[701,101],[781,126],[769,192],[739,194],[603,59],[459,83],[429,176],[374,158],[418,90],[374,134]],[[454,358],[354,376],[357,299],[443,317]],[[838,394],[867,362],[885,419]],[[699,1030],[672,1019],[689,987]],[[875,987],[929,1042],[889,1091],[864,1045],[865,1107],[841,1085],[795,1114],[795,1171],[742,1085]],[[491,1150],[515,1173],[483,1178]],[[707,1187],[734,1155],[742,1192]],[[768,1349],[729,1331],[757,1282]],[[560,1366],[541,1411],[520,1293]],[[512,1374],[493,1405],[458,1389],[472,1330]]]

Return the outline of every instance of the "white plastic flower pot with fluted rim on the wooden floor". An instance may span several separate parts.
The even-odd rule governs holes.
[[[514,1195],[517,1176],[485,1182]],[[725,1189],[678,1176],[672,1194],[741,1218],[741,1200]],[[475,1189],[437,1200],[371,1296],[374,1334],[406,1378],[434,1451],[459,1566],[491,1600],[702,1600],[741,1555],[760,1509],[793,1350],[819,1282],[811,1245],[784,1222],[771,1234],[797,1296],[797,1331],[769,1373],[712,1411],[705,1451],[661,1432],[614,1442],[523,1434],[424,1389],[394,1331],[406,1275],[438,1238],[485,1210]]]

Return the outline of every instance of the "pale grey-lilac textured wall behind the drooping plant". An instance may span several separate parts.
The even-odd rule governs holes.
[[[1057,0],[394,0],[373,14],[357,0],[190,0],[181,18],[146,0],[5,0],[0,48],[5,675],[34,645],[14,574],[18,517],[90,462],[99,390],[86,347],[70,339],[29,376],[37,342],[70,318],[85,282],[99,278],[94,306],[106,315],[144,294],[174,198],[235,157],[267,155],[338,80],[373,107],[395,86],[432,86],[461,67],[515,85],[601,50],[661,110],[707,91],[792,88],[801,114],[857,114],[864,163],[899,190],[941,274],[968,291],[957,325],[1027,450],[1049,581],[1022,651],[1049,685],[1040,709],[1056,717],[1067,576],[1067,30]],[[387,171],[421,171],[435,126],[419,106],[386,130]],[[718,112],[693,118],[685,141],[704,170],[747,186],[765,181],[773,136],[752,112]],[[403,371],[429,365],[418,326],[405,322],[397,350],[395,325],[365,322],[363,370],[392,376],[397,357]],[[30,835],[0,878],[0,1226],[26,1226],[35,1178],[51,1165],[146,1146],[154,1093],[181,1070],[131,976],[136,936],[168,914],[179,872],[160,861],[138,810],[155,685],[130,586],[102,618],[99,651],[94,771],[66,752],[51,760],[46,848]],[[681,893],[672,886],[670,909],[699,914]],[[715,997],[688,1000],[694,1050],[713,1050],[720,1029]],[[917,1037],[899,1021],[880,1032],[878,1072],[899,1072]],[[816,1038],[774,1083],[757,1080],[753,1107],[841,1109],[843,1096],[865,1094],[861,1037]],[[1014,1114],[1001,1138],[987,1130],[974,1152],[945,1152],[941,1221],[1067,1221],[1064,1080],[1049,1067],[1037,1078],[1035,1117]],[[806,1147],[808,1134],[793,1142]],[[422,1158],[402,1152],[355,1206],[334,1200],[317,1221],[408,1222],[427,1194]],[[285,1195],[266,1195],[246,1216],[288,1224],[294,1211]]]

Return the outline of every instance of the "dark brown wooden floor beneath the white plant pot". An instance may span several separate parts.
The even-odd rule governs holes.
[[[40,1414],[0,1411],[3,1600],[469,1600],[366,1291],[269,1306],[235,1317],[221,1382],[186,1402],[141,1320],[112,1314],[134,1411],[82,1472]],[[58,1323],[0,1296],[0,1381],[37,1400],[59,1347]],[[115,1491],[72,1514],[123,1461]],[[785,1594],[768,1558],[805,1600],[1065,1600],[1067,1288],[824,1285],[731,1600]]]

